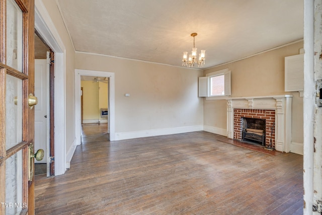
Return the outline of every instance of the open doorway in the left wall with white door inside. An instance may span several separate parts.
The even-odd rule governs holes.
[[[35,160],[35,175],[54,175],[54,52],[35,31],[35,150],[44,159]]]

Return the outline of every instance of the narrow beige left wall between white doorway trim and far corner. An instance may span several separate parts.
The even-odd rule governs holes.
[[[66,31],[65,25],[62,21],[61,15],[58,11],[56,1],[41,0],[52,20],[57,33],[65,47],[65,86],[60,84],[60,87],[65,87],[65,107],[66,107],[66,153],[72,148],[75,140],[75,92],[74,92],[74,73],[75,73],[75,51]],[[57,83],[56,83],[57,84]],[[58,84],[59,85],[59,84]],[[55,101],[60,102],[60,101]]]

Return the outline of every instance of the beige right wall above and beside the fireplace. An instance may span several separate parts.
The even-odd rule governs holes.
[[[284,57],[299,54],[298,42],[263,54],[204,70],[204,75],[228,68],[231,97],[292,94],[292,141],[303,143],[303,98],[284,91]],[[204,125],[226,129],[225,100],[204,100]]]

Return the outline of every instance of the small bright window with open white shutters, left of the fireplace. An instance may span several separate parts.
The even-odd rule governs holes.
[[[230,70],[222,69],[199,78],[199,97],[230,95]]]

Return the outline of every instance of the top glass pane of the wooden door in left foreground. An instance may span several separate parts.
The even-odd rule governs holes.
[[[7,62],[22,71],[22,11],[14,0],[7,0]]]

